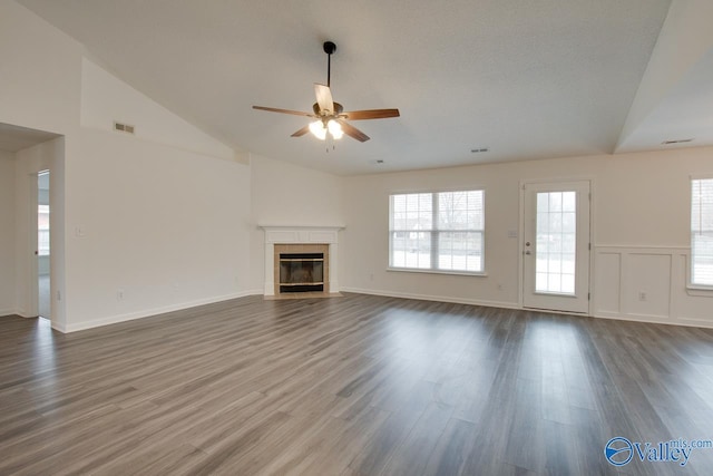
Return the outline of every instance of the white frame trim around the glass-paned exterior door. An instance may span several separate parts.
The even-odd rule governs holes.
[[[543,185],[543,184],[565,184],[570,182],[588,182],[589,183],[589,243],[590,249],[588,252],[589,258],[589,300],[587,303],[586,313],[573,313],[568,311],[558,311],[558,310],[547,310],[546,312],[551,312],[556,314],[570,314],[570,315],[593,315],[594,309],[594,299],[595,299],[595,289],[594,289],[594,254],[596,245],[594,243],[595,233],[595,187],[596,183],[594,177],[592,176],[575,176],[575,177],[557,177],[557,178],[524,178],[519,181],[518,188],[520,193],[520,203],[519,203],[519,217],[518,217],[518,240],[517,240],[517,268],[518,268],[518,307],[520,309],[525,308],[525,186],[526,185]],[[529,308],[527,308],[529,309]]]

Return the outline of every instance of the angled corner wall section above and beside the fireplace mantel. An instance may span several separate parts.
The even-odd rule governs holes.
[[[251,184],[251,286],[255,293],[262,294],[265,236],[258,225],[344,225],[344,178],[285,162],[252,156]],[[339,262],[341,263],[341,258]],[[341,270],[338,272],[341,276]]]

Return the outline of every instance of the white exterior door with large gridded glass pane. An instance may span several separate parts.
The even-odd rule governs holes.
[[[589,182],[524,187],[522,305],[589,311]]]

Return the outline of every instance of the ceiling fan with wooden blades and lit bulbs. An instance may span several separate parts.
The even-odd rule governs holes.
[[[316,138],[325,140],[328,135],[334,139],[340,139],[344,134],[359,140],[367,142],[369,136],[346,120],[364,120],[364,119],[385,119],[389,117],[399,117],[399,109],[367,109],[352,110],[344,113],[341,104],[334,103],[332,91],[330,90],[330,76],[332,67],[332,54],[336,51],[336,45],[332,41],[325,41],[324,52],[328,55],[326,62],[326,86],[314,84],[314,94],[316,103],[312,105],[313,113],[302,113],[299,110],[277,109],[274,107],[253,106],[253,109],[267,110],[271,113],[292,114],[295,116],[313,117],[316,120],[302,127],[294,133],[292,137],[301,137],[311,132]]]

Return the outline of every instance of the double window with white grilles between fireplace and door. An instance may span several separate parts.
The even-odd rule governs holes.
[[[484,271],[484,192],[390,196],[389,266]]]

